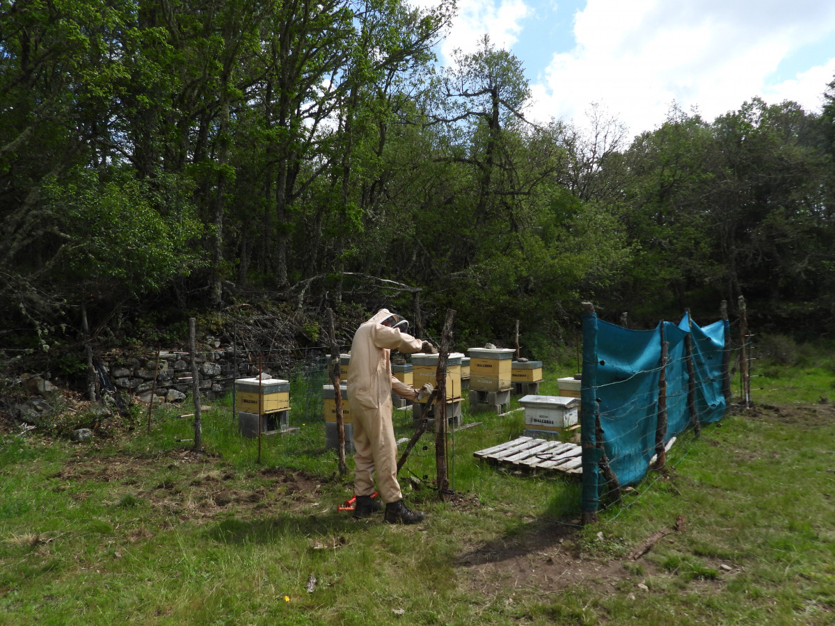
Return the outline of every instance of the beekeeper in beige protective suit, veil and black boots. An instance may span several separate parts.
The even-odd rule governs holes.
[[[419,391],[392,376],[389,354],[401,352],[436,353],[428,341],[407,335],[409,323],[388,309],[377,311],[354,334],[351,344],[351,366],[348,368],[348,402],[354,418],[354,493],[357,505],[354,517],[368,517],[380,510],[372,500],[374,476],[377,488],[386,503],[385,518],[389,523],[412,524],[423,520],[423,512],[411,511],[403,504],[397,482],[397,442],[392,424],[392,391],[407,400],[423,400],[433,386],[426,384]]]

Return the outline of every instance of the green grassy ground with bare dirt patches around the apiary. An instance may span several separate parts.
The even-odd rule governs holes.
[[[176,441],[193,435],[174,411],[150,435],[3,435],[0,624],[832,623],[835,413],[807,386],[827,359],[681,437],[664,472],[584,528],[577,483],[474,461],[521,434],[521,412],[465,411],[481,424],[455,434],[448,502],[423,439],[401,473],[427,512],[415,527],[337,512],[351,479],[321,422],[266,437],[260,463],[228,402],[204,413],[207,454]],[[541,392],[570,373],[546,372]],[[409,411],[396,423],[410,434]]]

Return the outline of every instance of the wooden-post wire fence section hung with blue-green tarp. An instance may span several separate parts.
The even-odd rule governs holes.
[[[630,331],[598,320],[593,309],[585,312],[580,391],[585,522],[596,521],[601,504],[620,502],[621,489],[641,483],[650,469],[664,469],[676,439],[688,432],[698,437],[701,425],[721,420],[731,405],[732,362],[741,374],[741,404],[750,406],[751,336],[744,317],[739,328],[740,341],[731,346],[726,318],[700,327],[688,312],[677,325],[661,322],[651,331]],[[676,454],[678,462],[687,452]]]

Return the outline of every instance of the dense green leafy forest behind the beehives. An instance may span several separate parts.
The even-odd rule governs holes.
[[[835,80],[821,113],[534,124],[488,38],[438,67],[454,9],[0,0],[3,362],[83,370],[79,338],[180,341],[249,307],[321,346],[326,307],[412,316],[415,294],[429,334],[447,308],[459,347],[519,320],[543,359],[581,299],[655,326],[744,295],[757,329],[828,333]]]

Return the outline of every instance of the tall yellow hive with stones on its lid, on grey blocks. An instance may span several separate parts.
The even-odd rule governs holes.
[[[504,413],[510,407],[513,388],[510,348],[470,348],[470,411]]]

